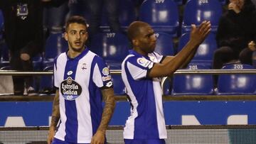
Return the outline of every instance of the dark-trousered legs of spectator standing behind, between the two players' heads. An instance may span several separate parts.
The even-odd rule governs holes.
[[[118,0],[70,0],[75,6],[85,6],[90,12],[90,36],[100,32],[100,24],[102,20],[102,9],[107,11],[107,19],[110,24],[110,31],[117,33],[121,31],[118,17]],[[76,9],[76,8],[75,8]],[[78,14],[78,13],[75,13]],[[71,13],[72,15],[72,13]],[[80,14],[82,15],[82,13]]]

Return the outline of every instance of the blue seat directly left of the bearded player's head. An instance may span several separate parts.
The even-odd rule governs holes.
[[[68,43],[63,38],[63,33],[50,33],[46,40],[45,53],[43,55],[43,67],[53,65],[55,57],[68,50]]]

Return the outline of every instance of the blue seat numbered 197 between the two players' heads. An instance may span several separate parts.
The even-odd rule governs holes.
[[[121,70],[121,63],[129,52],[129,41],[122,33],[98,33],[92,36],[90,50],[110,65],[111,70]]]

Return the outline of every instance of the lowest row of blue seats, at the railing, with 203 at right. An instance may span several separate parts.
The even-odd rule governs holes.
[[[205,65],[191,63],[187,70],[209,70]],[[251,65],[229,64],[222,70],[252,70]],[[112,74],[114,94],[125,95],[121,74]],[[53,77],[43,76],[39,92],[53,92]],[[164,95],[252,95],[256,94],[255,74],[220,74],[217,87],[214,87],[213,74],[175,74],[171,79],[164,79]]]

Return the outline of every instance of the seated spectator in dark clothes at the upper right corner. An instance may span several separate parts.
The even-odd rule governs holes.
[[[255,49],[250,45],[256,40],[256,11],[251,0],[230,0],[228,11],[220,18],[216,40],[213,69],[237,60],[252,65]]]

